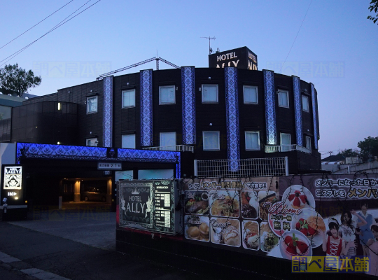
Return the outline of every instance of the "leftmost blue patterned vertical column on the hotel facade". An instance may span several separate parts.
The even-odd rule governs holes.
[[[104,117],[103,117],[103,147],[113,146],[113,76],[105,77],[104,86]]]

